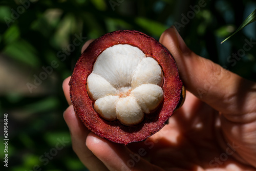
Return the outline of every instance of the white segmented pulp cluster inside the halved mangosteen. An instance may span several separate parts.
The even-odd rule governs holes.
[[[154,58],[137,47],[115,45],[98,56],[87,89],[102,118],[135,125],[161,103],[162,82],[162,69]]]

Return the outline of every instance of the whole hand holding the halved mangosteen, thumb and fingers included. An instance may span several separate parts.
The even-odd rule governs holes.
[[[190,51],[174,27],[160,37],[187,89],[183,106],[143,142],[105,140],[82,124],[63,81],[63,116],[72,146],[89,170],[256,170],[256,83]],[[92,42],[89,40],[82,51]]]

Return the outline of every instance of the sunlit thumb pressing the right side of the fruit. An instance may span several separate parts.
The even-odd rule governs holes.
[[[255,83],[190,51],[175,27],[163,32],[159,41],[174,56],[189,92],[225,114],[251,112],[252,106],[245,105],[245,100],[254,101]]]

